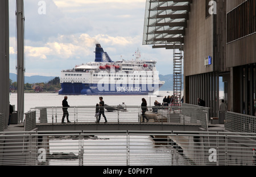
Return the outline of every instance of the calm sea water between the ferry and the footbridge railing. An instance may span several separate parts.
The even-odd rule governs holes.
[[[172,95],[172,91],[159,91],[155,95],[105,95],[102,96],[105,104],[110,106],[117,106],[125,103],[127,106],[140,106],[142,98],[147,100],[148,106],[154,106],[155,100],[162,103],[163,97],[156,95],[168,96]],[[68,95],[69,106],[95,106],[100,102],[100,95]],[[64,95],[58,95],[55,93],[33,93],[24,94],[24,112],[30,111],[30,108],[34,107],[49,107],[49,106],[62,106],[62,100]],[[10,94],[10,103],[17,108],[17,94]]]

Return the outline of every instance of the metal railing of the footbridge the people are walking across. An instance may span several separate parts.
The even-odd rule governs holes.
[[[35,107],[31,111],[36,112],[36,123],[61,123],[63,117],[62,107]],[[183,123],[201,124],[205,127],[206,115],[204,109],[195,107],[147,107],[146,117],[150,123]],[[91,123],[96,121],[95,106],[75,106],[68,108],[69,121],[75,123]],[[105,106],[105,116],[108,122],[142,122],[141,106]],[[101,121],[104,117],[101,115]],[[146,120],[145,120],[146,121]],[[67,118],[65,117],[65,122]],[[71,123],[71,124],[72,124]]]

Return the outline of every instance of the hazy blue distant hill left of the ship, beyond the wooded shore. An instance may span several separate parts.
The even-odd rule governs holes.
[[[55,77],[48,77],[48,76],[41,76],[41,75],[33,75],[33,76],[25,76],[24,79],[24,83],[47,83],[49,81],[51,81],[52,79],[54,79]],[[14,73],[10,73],[10,79],[13,82],[17,82],[17,75]]]

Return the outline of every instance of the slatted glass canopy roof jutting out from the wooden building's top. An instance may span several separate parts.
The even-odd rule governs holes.
[[[147,0],[143,45],[172,49],[183,44],[192,0]]]

